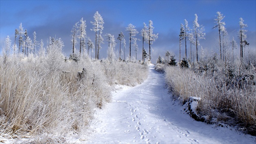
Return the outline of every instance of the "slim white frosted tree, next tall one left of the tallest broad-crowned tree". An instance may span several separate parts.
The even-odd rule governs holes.
[[[86,37],[86,21],[80,19],[80,25],[79,25],[79,30],[80,30],[80,56],[81,56],[81,49],[85,49],[85,37]]]

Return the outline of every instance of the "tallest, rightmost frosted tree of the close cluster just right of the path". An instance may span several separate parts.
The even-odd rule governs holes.
[[[199,43],[199,39],[205,39],[205,33],[204,32],[204,27],[202,25],[199,25],[197,22],[197,14],[195,14],[195,20],[193,23],[194,26],[194,35],[195,35],[195,49],[196,49],[196,60],[198,62],[198,45],[200,45]]]

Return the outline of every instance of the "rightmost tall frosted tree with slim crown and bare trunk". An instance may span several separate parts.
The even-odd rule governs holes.
[[[243,23],[243,18],[241,17],[240,18],[240,21],[239,21],[239,26],[240,26],[240,29],[239,29],[239,32],[238,32],[238,37],[239,37],[239,40],[240,40],[240,58],[241,58],[241,61],[243,60],[243,43],[245,42],[245,39],[246,39],[246,34],[245,32],[247,32],[247,30],[245,30],[244,28],[247,27],[247,24],[244,24]]]

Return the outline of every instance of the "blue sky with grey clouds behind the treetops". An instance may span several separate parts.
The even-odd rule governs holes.
[[[244,23],[248,25],[246,34],[249,47],[256,49],[256,0],[0,0],[0,47],[3,47],[7,35],[14,43],[15,29],[22,23],[29,37],[32,38],[35,31],[37,41],[43,39],[45,45],[49,37],[61,38],[65,45],[63,52],[69,56],[72,50],[70,31],[82,17],[86,20],[87,36],[92,40],[95,39],[94,32],[90,30],[93,27],[90,21],[93,21],[96,11],[104,20],[103,35],[110,33],[117,37],[122,31],[126,37],[126,47],[129,47],[128,34],[125,31],[128,24],[135,25],[137,30],[141,31],[143,22],[148,24],[148,21],[152,20],[154,33],[158,33],[158,39],[152,45],[154,49],[152,62],[156,61],[159,54],[163,56],[167,50],[174,52],[178,58],[180,23],[184,24],[184,19],[187,19],[189,27],[192,28],[195,14],[206,33],[206,39],[200,39],[200,46],[213,49],[219,54],[218,32],[212,29],[217,11],[225,15],[223,21],[226,23],[229,37],[230,39],[234,37],[237,43],[239,43],[237,37],[239,18],[242,17]],[[139,34],[137,38],[141,39]],[[106,43],[105,41],[102,45],[101,58],[106,58]],[[138,44],[138,59],[141,59],[142,42],[138,41]],[[135,52],[132,52],[132,56],[135,56]],[[182,56],[184,56],[184,45],[182,45]]]

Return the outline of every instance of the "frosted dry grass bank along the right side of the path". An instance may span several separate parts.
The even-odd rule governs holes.
[[[228,85],[221,75],[202,75],[191,69],[166,67],[166,82],[177,98],[187,101],[200,97],[198,111],[210,122],[238,126],[250,134],[256,133],[256,85]]]

